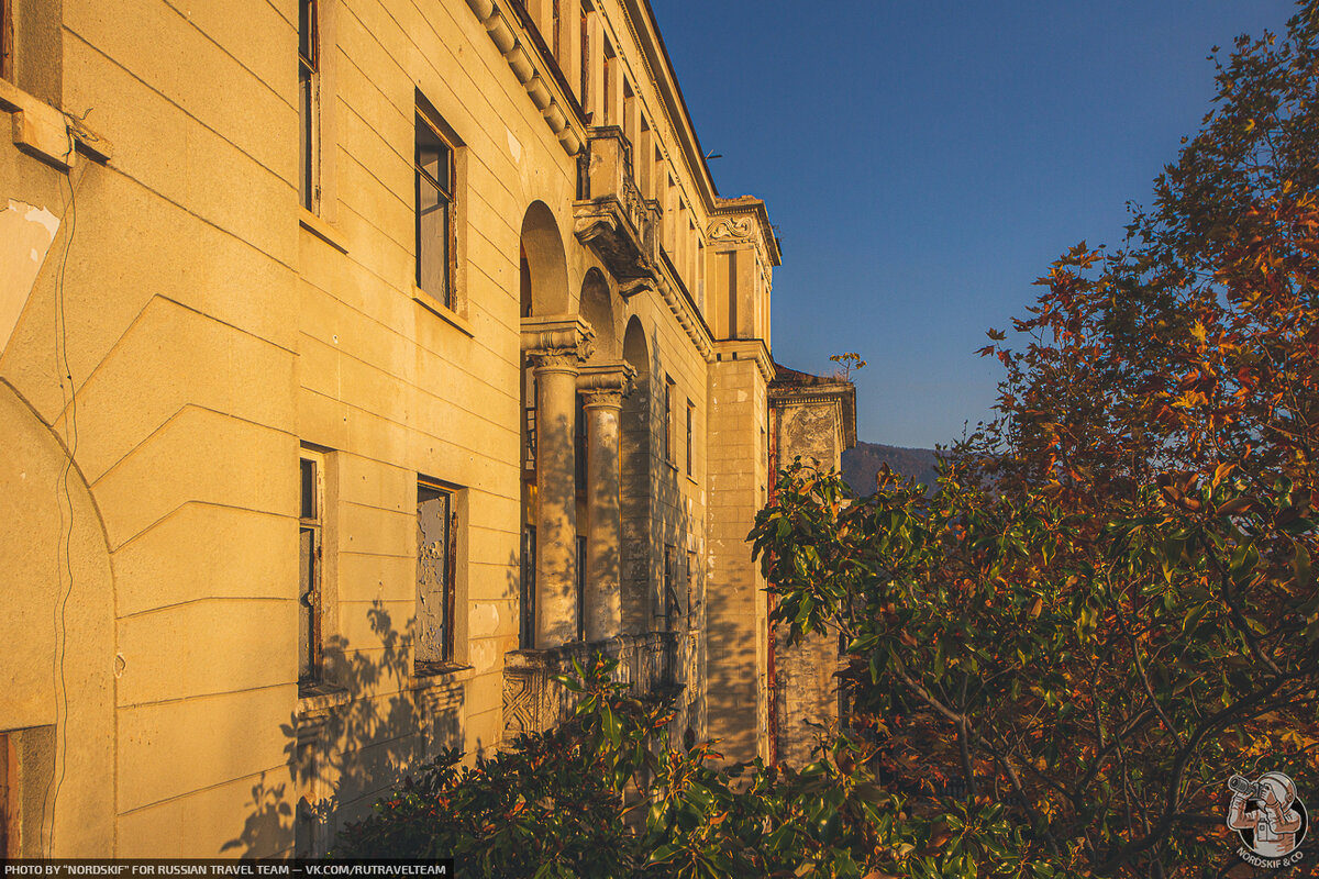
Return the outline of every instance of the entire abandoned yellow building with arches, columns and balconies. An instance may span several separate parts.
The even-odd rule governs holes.
[[[323,853],[596,650],[802,754],[745,536],[855,395],[646,0],[0,14],[0,851]]]

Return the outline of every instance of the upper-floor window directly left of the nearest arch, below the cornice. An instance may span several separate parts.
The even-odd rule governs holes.
[[[417,286],[454,307],[454,146],[417,112]]]

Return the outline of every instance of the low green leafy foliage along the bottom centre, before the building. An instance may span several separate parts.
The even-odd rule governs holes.
[[[571,723],[470,767],[446,755],[348,826],[335,854],[451,857],[463,875],[509,879],[882,879],[976,875],[1021,849],[1000,807],[905,810],[856,742],[798,770],[721,766],[708,742],[671,747],[670,708],[612,683],[616,664],[561,679],[579,695]]]

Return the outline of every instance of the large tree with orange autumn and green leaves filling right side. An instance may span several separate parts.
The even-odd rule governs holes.
[[[1034,875],[1227,870],[1228,776],[1319,768],[1316,9],[1215,50],[1124,245],[991,331],[998,418],[936,497],[795,468],[752,535],[776,619],[845,635],[894,784],[1004,805]]]

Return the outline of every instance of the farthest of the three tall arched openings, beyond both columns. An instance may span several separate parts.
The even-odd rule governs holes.
[[[623,336],[623,360],[637,370],[623,401],[619,431],[619,505],[623,518],[623,630],[653,629],[650,609],[650,351],[646,333],[632,318]]]

